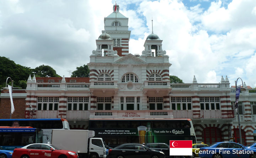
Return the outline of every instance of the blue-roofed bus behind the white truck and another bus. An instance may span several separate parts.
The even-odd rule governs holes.
[[[31,126],[43,130],[43,143],[51,141],[52,129],[70,129],[66,119],[0,119],[0,126],[12,126],[18,122],[19,126]]]

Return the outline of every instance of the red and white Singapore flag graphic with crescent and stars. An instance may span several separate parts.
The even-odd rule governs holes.
[[[170,141],[170,155],[192,156],[192,141]]]

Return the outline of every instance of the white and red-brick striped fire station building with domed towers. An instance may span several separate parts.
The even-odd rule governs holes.
[[[105,30],[90,55],[90,77],[28,77],[14,92],[12,118],[65,118],[71,129],[87,129],[90,119],[191,119],[198,142],[239,142],[235,88],[220,83],[170,83],[169,56],[152,32],[142,53],[129,54],[128,18],[104,18]],[[254,142],[256,89],[240,93],[242,143]],[[1,93],[0,117],[10,116],[10,97]],[[132,115],[131,115],[132,114]]]

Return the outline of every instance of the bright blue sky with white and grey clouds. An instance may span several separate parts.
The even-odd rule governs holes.
[[[129,18],[129,53],[153,31],[184,83],[256,87],[256,0],[117,0]],[[114,0],[0,0],[0,56],[69,77],[90,62]],[[238,85],[242,81],[238,80]]]

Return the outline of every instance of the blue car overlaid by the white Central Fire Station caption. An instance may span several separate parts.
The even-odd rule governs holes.
[[[199,150],[201,158],[256,158],[256,149],[235,142],[217,142]]]

